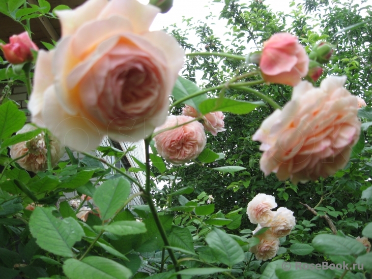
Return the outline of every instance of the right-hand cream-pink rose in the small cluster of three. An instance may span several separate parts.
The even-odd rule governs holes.
[[[296,225],[296,219],[293,211],[285,207],[279,207],[273,211],[274,215],[270,222],[261,224],[263,227],[271,227],[271,234],[275,237],[284,237],[289,235]]]

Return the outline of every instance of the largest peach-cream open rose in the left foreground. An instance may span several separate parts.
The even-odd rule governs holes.
[[[184,62],[174,38],[149,32],[159,11],[136,0],[89,0],[56,12],[62,38],[39,52],[32,121],[78,151],[97,147],[105,135],[150,135],[164,122]]]

